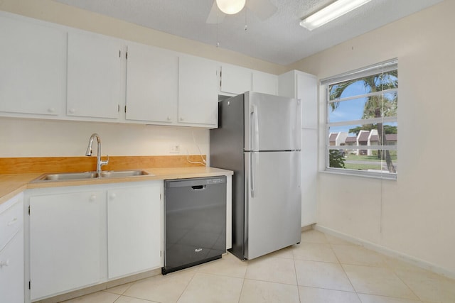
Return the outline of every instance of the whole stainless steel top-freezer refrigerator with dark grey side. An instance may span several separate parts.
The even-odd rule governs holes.
[[[232,249],[253,259],[300,242],[301,104],[246,92],[218,102],[210,166],[233,170]]]

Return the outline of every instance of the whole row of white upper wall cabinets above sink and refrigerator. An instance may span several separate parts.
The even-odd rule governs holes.
[[[265,72],[1,11],[0,37],[0,116],[213,128],[218,94],[277,92]]]

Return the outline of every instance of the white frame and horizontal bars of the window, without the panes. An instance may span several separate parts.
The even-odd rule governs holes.
[[[375,177],[380,179],[389,179],[389,180],[397,180],[398,172],[387,172],[381,170],[380,172],[375,171],[368,171],[368,170],[354,170],[354,169],[346,169],[346,168],[338,168],[338,167],[330,167],[330,150],[360,150],[360,145],[330,145],[330,128],[336,126],[363,126],[367,124],[377,124],[382,123],[385,126],[387,123],[396,123],[398,126],[398,113],[395,116],[382,116],[381,118],[367,118],[367,119],[357,119],[357,120],[349,120],[349,121],[338,121],[338,122],[330,122],[329,116],[331,111],[331,105],[336,102],[341,101],[349,101],[353,99],[360,99],[360,98],[368,98],[372,96],[383,96],[387,93],[395,93],[398,95],[399,92],[399,85],[393,89],[385,89],[380,92],[369,92],[365,94],[358,94],[355,96],[350,97],[342,97],[339,99],[330,100],[330,92],[328,91],[329,87],[333,84],[347,82],[350,80],[355,79],[362,79],[365,77],[378,75],[384,72],[390,72],[393,70],[397,70],[398,72],[398,60],[394,58],[392,60],[387,60],[384,62],[380,62],[375,65],[370,65],[368,67],[363,67],[358,70],[353,70],[350,72],[343,73],[341,75],[336,75],[333,77],[328,77],[325,79],[320,80],[320,86],[323,88],[321,92],[325,95],[323,97],[323,101],[325,104],[326,109],[326,129],[325,129],[325,172],[333,172],[343,175],[356,175],[362,177]],[[398,98],[398,97],[397,97]],[[386,135],[385,133],[383,134]],[[398,135],[397,135],[397,143],[395,145],[361,145],[362,150],[378,150],[380,146],[380,150],[395,150],[398,155]],[[383,143],[384,144],[384,143]],[[387,142],[385,143],[387,144]],[[385,162],[385,160],[380,160],[381,162]]]

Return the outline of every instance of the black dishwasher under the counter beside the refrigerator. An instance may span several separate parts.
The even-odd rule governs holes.
[[[164,268],[168,272],[226,253],[226,177],[164,181]]]

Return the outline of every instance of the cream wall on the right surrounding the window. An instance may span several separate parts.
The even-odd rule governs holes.
[[[454,11],[446,0],[291,68],[322,79],[398,58],[397,181],[321,172],[318,224],[455,277]]]

